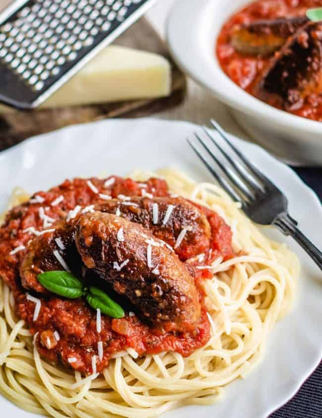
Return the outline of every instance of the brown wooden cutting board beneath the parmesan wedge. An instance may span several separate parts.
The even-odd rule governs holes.
[[[185,96],[186,79],[169,57],[165,44],[150,23],[141,18],[115,43],[165,56],[172,66],[172,88],[168,97],[131,100],[89,106],[32,111],[12,111],[0,115],[0,151],[34,135],[68,125],[115,117],[141,117],[179,104]]]

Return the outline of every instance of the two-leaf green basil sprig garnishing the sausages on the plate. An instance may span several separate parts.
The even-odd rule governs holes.
[[[67,299],[77,299],[86,296],[87,302],[93,309],[111,318],[124,317],[123,309],[114,302],[103,290],[90,287],[89,290],[72,274],[65,271],[51,271],[38,275],[38,281],[51,292]]]

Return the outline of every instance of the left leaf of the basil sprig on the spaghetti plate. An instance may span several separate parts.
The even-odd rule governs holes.
[[[65,271],[51,271],[38,275],[38,281],[51,292],[67,299],[77,299],[83,295],[83,283]]]

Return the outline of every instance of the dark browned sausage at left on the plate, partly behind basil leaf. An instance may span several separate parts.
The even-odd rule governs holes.
[[[67,223],[62,220],[56,222],[53,227],[54,232],[35,237],[27,247],[19,269],[21,284],[26,289],[47,293],[37,279],[42,272],[64,270],[67,267],[77,276],[81,273],[83,264],[75,245],[73,222]]]

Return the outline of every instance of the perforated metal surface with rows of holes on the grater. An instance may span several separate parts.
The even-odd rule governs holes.
[[[46,80],[142,0],[33,1],[17,19],[0,26],[0,58],[33,90],[42,90]]]

